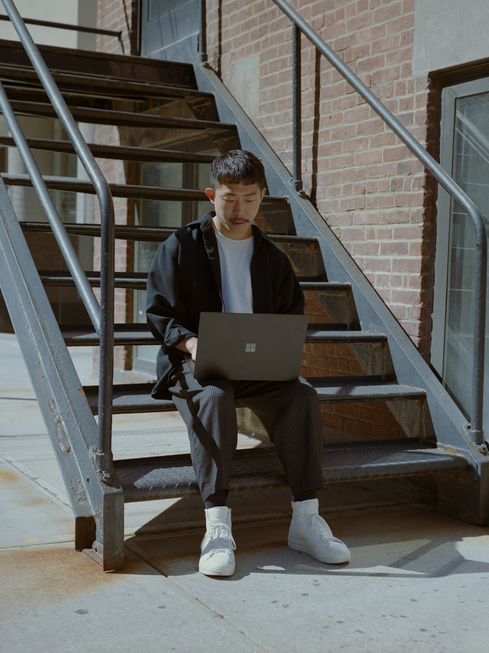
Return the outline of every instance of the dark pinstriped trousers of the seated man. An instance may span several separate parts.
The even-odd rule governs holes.
[[[267,430],[294,496],[323,487],[323,427],[316,390],[297,381],[197,381],[186,363],[170,377],[173,403],[185,421],[203,501],[228,490],[237,447],[235,400]]]

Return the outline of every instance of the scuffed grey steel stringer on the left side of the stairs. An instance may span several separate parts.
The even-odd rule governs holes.
[[[123,491],[98,478],[97,424],[1,178],[0,286],[74,511],[75,548],[119,569]]]

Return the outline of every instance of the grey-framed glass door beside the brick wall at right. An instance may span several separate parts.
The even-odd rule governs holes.
[[[444,89],[441,165],[475,202],[489,211],[489,80]],[[432,364],[458,406],[470,415],[475,287],[475,236],[472,221],[441,187],[437,240]],[[487,301],[486,301],[487,311]],[[489,394],[488,326],[484,387]],[[442,337],[443,334],[443,337]],[[489,401],[484,402],[489,429]]]

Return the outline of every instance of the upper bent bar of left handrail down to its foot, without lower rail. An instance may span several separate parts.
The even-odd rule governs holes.
[[[111,483],[114,475],[111,452],[112,390],[113,390],[113,332],[114,332],[114,251],[115,218],[110,187],[98,167],[67,103],[57,88],[52,74],[33,41],[12,0],[1,0],[18,37],[29,57],[53,108],[65,128],[83,167],[95,187],[100,205],[100,371],[98,386],[98,434],[93,456],[100,480]]]

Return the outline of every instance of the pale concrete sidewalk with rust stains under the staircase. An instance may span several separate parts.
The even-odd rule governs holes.
[[[74,349],[83,383],[91,351]],[[73,518],[15,336],[0,334],[0,651],[485,652],[489,534],[434,513],[406,483],[320,498],[349,565],[286,545],[288,490],[231,495],[237,568],[197,570],[198,498],[126,506],[126,564],[104,574]],[[115,418],[117,458],[188,451],[176,414]],[[246,436],[239,446],[259,445]],[[484,644],[484,642],[486,642]]]

